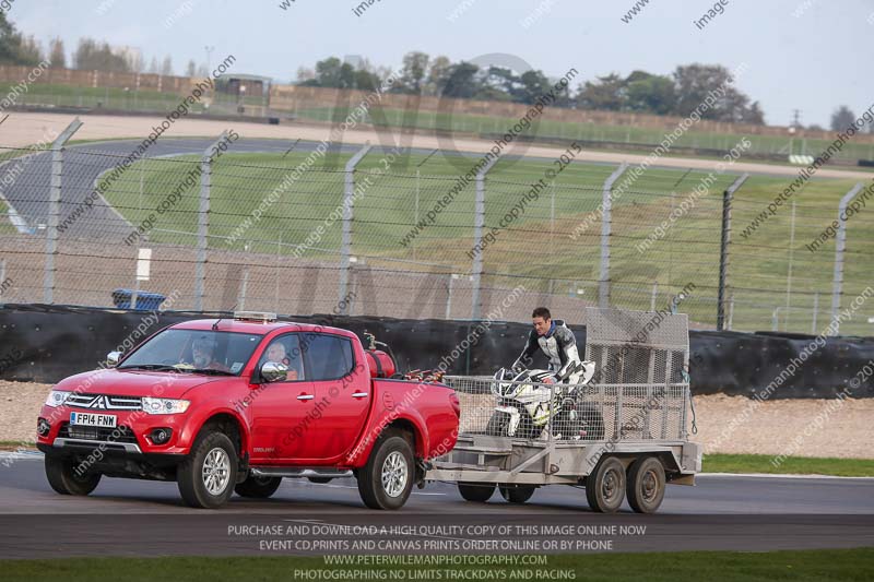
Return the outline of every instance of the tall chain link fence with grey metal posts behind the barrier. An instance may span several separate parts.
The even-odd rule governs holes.
[[[728,171],[650,168],[629,183],[628,168],[578,159],[489,169],[399,149],[264,154],[235,135],[173,155],[146,145],[134,159],[129,142],[64,147],[64,136],[0,149],[0,300],[113,306],[128,289],[169,309],[510,321],[546,305],[575,324],[600,306],[819,333],[870,281],[871,188],[840,219],[843,186],[812,181],[818,195],[741,236],[771,193]],[[811,250],[832,222],[842,256],[837,227]],[[515,289],[524,300],[506,300]],[[870,335],[865,311],[840,332]]]

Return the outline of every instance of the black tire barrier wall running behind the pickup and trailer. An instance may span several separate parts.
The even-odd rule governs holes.
[[[210,317],[227,318],[229,313],[5,305],[0,308],[0,378],[54,383],[95,368],[107,353],[119,346],[129,351],[166,325]],[[522,351],[530,328],[524,323],[377,317],[293,319],[345,328],[359,336],[365,331],[374,333],[392,348],[400,371],[439,366],[462,376],[491,376],[510,365]],[[586,329],[577,326],[574,332],[582,352]],[[693,331],[689,336],[694,394],[752,397],[782,377],[771,399],[828,399],[840,393],[874,397],[874,378],[860,379],[860,370],[874,360],[874,337],[829,337],[817,343],[808,335],[764,332]],[[538,354],[534,366],[545,365],[543,355]]]

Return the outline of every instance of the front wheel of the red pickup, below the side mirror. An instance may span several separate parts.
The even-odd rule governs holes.
[[[237,450],[227,435],[202,432],[177,472],[179,494],[186,504],[201,509],[224,506],[234,495],[237,462]],[[209,488],[205,482],[210,483]]]

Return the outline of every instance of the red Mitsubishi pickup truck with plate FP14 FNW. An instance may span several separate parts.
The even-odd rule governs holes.
[[[444,384],[391,376],[345,330],[268,313],[177,323],[54,387],[37,447],[64,495],[103,475],[176,480],[189,506],[217,508],[351,470],[367,507],[398,509],[454,446],[460,408]]]

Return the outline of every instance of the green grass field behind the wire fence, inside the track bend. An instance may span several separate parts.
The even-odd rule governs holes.
[[[309,238],[304,257],[335,260],[340,249],[343,164],[346,156],[326,157],[300,175],[277,201],[268,205],[258,221],[240,233],[262,200],[277,188],[308,154],[234,154],[218,158],[213,169],[210,245],[275,254],[291,253]],[[441,273],[470,272],[468,254],[473,242],[474,186],[468,185],[454,201],[406,246],[401,241],[417,221],[427,217],[437,201],[450,191],[457,176],[469,170],[472,158],[435,155],[400,157],[385,170],[380,151],[371,152],[356,173],[358,185],[369,177],[371,186],[355,202],[353,253],[366,264],[402,271]],[[197,166],[193,157],[150,159],[135,164],[116,181],[106,198],[132,224],[140,224]],[[499,225],[501,216],[519,203],[530,185],[544,176],[548,161],[501,161],[489,173],[486,186],[486,227]],[[554,167],[554,166],[552,166]],[[524,284],[531,293],[580,296],[597,301],[601,224],[592,213],[602,199],[602,183],[614,168],[571,164],[541,191],[524,214],[496,235],[484,253],[486,285],[513,287]],[[418,176],[416,176],[418,171]],[[717,176],[705,195],[648,250],[639,246],[672,209],[680,212],[705,174],[649,169],[621,197],[614,194],[611,238],[612,302],[649,309],[653,285],[656,306],[664,308],[687,283],[696,285],[681,307],[696,322],[712,325],[719,272],[721,192],[733,175]],[[617,182],[622,182],[622,179]],[[734,301],[732,324],[736,330],[769,330],[777,310],[780,330],[811,332],[813,305],[818,302],[817,333],[828,323],[835,242],[816,252],[805,244],[837,215],[841,195],[850,180],[812,180],[796,195],[794,242],[790,247],[792,210],[784,205],[745,240],[740,231],[765,210],[790,178],[752,177],[735,195],[732,210],[729,286]],[[615,191],[615,187],[614,187]],[[157,217],[151,240],[194,245],[199,180],[182,192],[172,211]],[[871,206],[871,204],[869,204]],[[578,238],[579,225],[589,226]],[[322,225],[323,233],[314,238]],[[845,302],[869,284],[874,261],[866,246],[874,228],[874,209],[862,212],[848,226],[845,264]],[[227,238],[236,231],[237,240]],[[533,244],[532,244],[533,241]],[[792,264],[789,278],[790,258]],[[400,262],[399,262],[400,261]],[[789,283],[790,309],[786,309]],[[864,317],[845,324],[842,333],[871,335]]]

